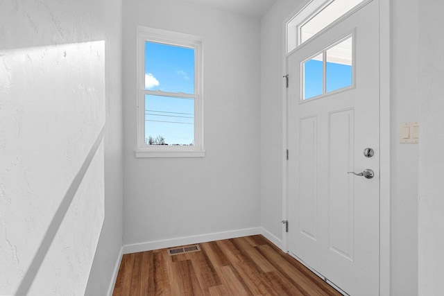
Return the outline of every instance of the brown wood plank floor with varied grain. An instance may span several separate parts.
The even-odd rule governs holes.
[[[264,236],[123,255],[113,296],[341,295]]]

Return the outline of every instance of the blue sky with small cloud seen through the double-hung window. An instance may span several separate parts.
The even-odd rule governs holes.
[[[145,89],[194,94],[194,49],[145,44]],[[169,145],[194,143],[194,100],[145,96],[145,135]]]

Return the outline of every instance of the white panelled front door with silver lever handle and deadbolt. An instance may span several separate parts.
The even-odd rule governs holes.
[[[289,252],[357,296],[379,295],[378,5],[287,57]],[[348,74],[334,68],[341,52]],[[335,82],[341,75],[350,81]],[[348,173],[367,168],[371,179]]]

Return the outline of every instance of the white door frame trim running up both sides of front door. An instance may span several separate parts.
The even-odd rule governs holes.
[[[286,24],[313,0],[303,0],[289,17],[282,22],[282,76],[287,75]],[[379,296],[390,295],[390,0],[379,1]],[[282,220],[288,218],[288,128],[287,87],[282,82]],[[291,157],[291,155],[290,155]],[[291,227],[291,225],[290,225]],[[282,227],[282,251],[289,252],[288,233]]]

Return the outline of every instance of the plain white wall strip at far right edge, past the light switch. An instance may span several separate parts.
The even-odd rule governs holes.
[[[443,10],[441,1],[420,1],[418,295],[421,296],[444,295]]]

